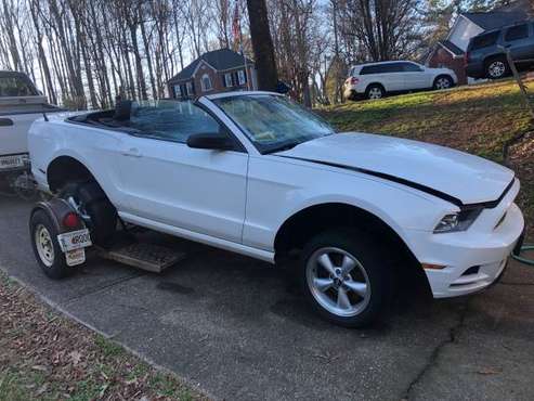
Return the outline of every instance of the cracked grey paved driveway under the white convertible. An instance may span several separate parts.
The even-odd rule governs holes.
[[[161,275],[96,257],[53,282],[31,253],[30,204],[0,197],[0,267],[87,324],[220,399],[534,399],[534,268],[471,298],[404,292],[365,331],[311,313],[287,273],[157,236],[187,253]]]

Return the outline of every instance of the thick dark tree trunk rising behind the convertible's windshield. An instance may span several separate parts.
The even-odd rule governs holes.
[[[247,9],[250,20],[252,50],[258,70],[258,89],[275,91],[278,85],[278,73],[276,72],[265,0],[247,0]]]

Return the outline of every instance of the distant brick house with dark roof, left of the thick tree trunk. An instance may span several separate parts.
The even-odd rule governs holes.
[[[167,82],[170,98],[195,99],[204,94],[256,90],[256,68],[250,59],[230,49],[204,53]]]

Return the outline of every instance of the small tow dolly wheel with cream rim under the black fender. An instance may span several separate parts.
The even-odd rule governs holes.
[[[49,236],[50,246],[52,251],[43,250],[42,246],[37,244],[38,236],[43,234],[42,230],[47,231],[47,235]],[[37,210],[31,215],[29,221],[29,235],[31,240],[31,246],[34,248],[34,254],[36,255],[37,262],[39,263],[41,270],[44,274],[53,280],[60,280],[66,277],[70,273],[70,268],[68,268],[65,255],[62,253],[60,244],[57,243],[57,229],[55,224],[50,219],[49,215],[47,215],[43,210]],[[47,253],[47,256],[41,256],[38,247],[41,249],[41,253]]]

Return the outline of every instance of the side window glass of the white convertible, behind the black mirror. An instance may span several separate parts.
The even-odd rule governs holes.
[[[213,117],[188,101],[134,102],[127,126],[139,137],[179,143],[195,133],[223,131]]]

